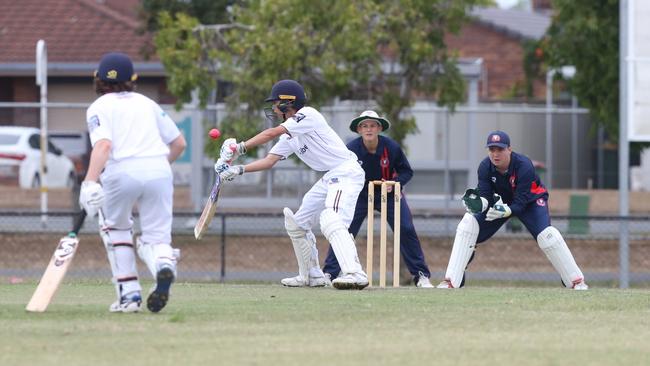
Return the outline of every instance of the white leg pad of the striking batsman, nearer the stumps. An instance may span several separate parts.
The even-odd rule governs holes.
[[[341,273],[343,275],[347,273],[363,273],[365,275],[352,235],[338,214],[331,208],[326,208],[321,212],[320,228],[334,249],[336,259],[341,266]]]

